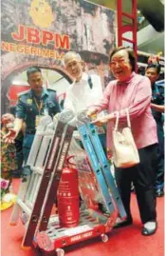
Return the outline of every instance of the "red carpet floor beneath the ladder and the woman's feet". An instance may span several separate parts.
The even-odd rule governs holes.
[[[13,181],[15,191],[18,189],[19,180]],[[132,212],[134,225],[119,229],[113,229],[109,234],[109,241],[102,243],[100,238],[69,246],[65,248],[66,256],[163,256],[164,255],[164,202],[163,198],[157,199],[156,234],[143,237],[140,234],[140,220],[136,197],[132,195]],[[24,226],[19,222],[18,226],[9,226],[9,217],[12,208],[1,214],[1,256],[40,256],[41,252],[35,250],[23,250],[21,242],[24,235]],[[52,255],[52,254],[51,254]],[[55,253],[53,253],[55,255]]]

